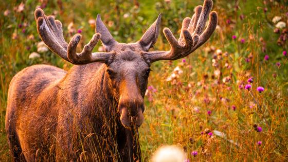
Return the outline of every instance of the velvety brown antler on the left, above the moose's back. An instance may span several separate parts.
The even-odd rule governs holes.
[[[111,52],[94,52],[93,48],[98,43],[101,34],[93,35],[91,41],[86,44],[81,53],[76,53],[76,47],[81,40],[81,34],[75,34],[69,44],[63,37],[62,24],[55,20],[53,16],[46,16],[40,8],[35,10],[35,20],[37,21],[37,31],[43,42],[57,55],[64,60],[83,65],[92,62],[109,63],[115,53]]]

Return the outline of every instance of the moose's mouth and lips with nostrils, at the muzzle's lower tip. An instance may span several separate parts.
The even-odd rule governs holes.
[[[125,128],[131,129],[132,127],[140,127],[144,121],[143,112],[138,109],[137,113],[131,113],[127,107],[122,107],[120,110],[120,120]]]

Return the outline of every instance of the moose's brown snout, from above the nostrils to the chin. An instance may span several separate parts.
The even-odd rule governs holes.
[[[120,120],[125,128],[131,128],[132,125],[140,127],[144,121],[143,99],[140,101],[120,101],[118,105]]]

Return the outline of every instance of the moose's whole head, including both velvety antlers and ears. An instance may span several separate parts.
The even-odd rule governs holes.
[[[106,65],[105,75],[109,76],[113,97],[118,102],[120,120],[124,127],[130,128],[133,123],[139,127],[143,122],[143,97],[148,84],[151,63],[184,58],[204,44],[210,38],[218,22],[217,13],[214,11],[210,13],[211,8],[211,0],[206,0],[203,7],[197,6],[192,19],[186,17],[183,20],[178,40],[169,28],[164,28],[163,32],[170,44],[168,51],[149,51],[159,35],[161,14],[135,43],[118,43],[98,14],[96,34],[80,53],[76,52],[76,47],[81,40],[81,34],[75,34],[67,44],[60,21],[55,20],[53,16],[46,16],[42,9],[35,11],[35,19],[41,39],[64,60],[76,65],[92,62],[102,62]],[[208,15],[209,23],[205,29]],[[99,40],[105,52],[92,52]]]

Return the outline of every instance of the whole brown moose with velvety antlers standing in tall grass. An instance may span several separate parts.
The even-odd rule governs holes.
[[[178,40],[164,28],[169,51],[149,51],[161,14],[136,43],[118,43],[98,14],[96,33],[77,53],[81,35],[67,44],[61,22],[36,9],[42,41],[74,66],[33,65],[11,80],[5,124],[13,161],[141,161],[138,128],[150,66],[203,45],[218,23],[212,5],[205,0],[183,20]],[[99,40],[104,52],[92,52]]]

